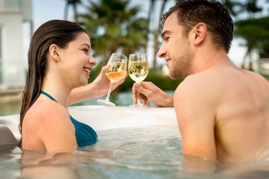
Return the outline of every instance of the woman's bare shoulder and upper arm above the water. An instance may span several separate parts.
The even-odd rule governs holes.
[[[30,107],[23,122],[23,136],[26,148],[45,147],[50,151],[76,146],[67,108],[50,100],[36,101]]]

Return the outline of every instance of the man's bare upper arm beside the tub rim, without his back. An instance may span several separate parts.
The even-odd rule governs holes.
[[[215,100],[205,85],[194,77],[186,78],[175,91],[174,107],[182,137],[182,152],[216,160],[216,110],[212,102]]]

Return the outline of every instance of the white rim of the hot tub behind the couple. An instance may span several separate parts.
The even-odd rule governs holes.
[[[96,131],[147,125],[178,126],[173,107],[88,105],[69,107],[68,110],[74,119],[90,125]],[[15,138],[20,139],[19,115],[2,116],[0,117],[0,124],[6,125]]]

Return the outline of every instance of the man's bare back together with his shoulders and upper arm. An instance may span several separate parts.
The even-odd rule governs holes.
[[[251,160],[269,146],[268,103],[269,83],[235,66],[214,66],[187,77],[174,99],[183,152],[221,161]]]

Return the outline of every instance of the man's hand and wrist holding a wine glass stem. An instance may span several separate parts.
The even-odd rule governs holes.
[[[139,95],[140,102],[144,105],[149,106],[150,101],[158,107],[173,107],[173,96],[164,93],[152,82],[134,83],[132,91],[134,104],[137,104]]]

